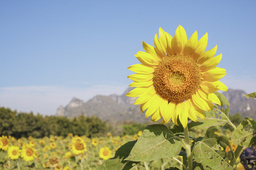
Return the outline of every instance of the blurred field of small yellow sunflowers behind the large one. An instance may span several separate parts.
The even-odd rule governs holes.
[[[216,134],[223,133],[218,130]],[[229,136],[230,130],[225,130]],[[204,131],[197,130],[190,135],[200,137]],[[67,137],[50,135],[43,138],[14,138],[2,135],[0,137],[0,169],[99,169],[107,159],[113,158],[118,148],[136,141],[142,131],[135,135],[112,136],[111,133],[104,137],[88,138],[79,137],[69,133]],[[231,141],[230,141],[231,142]],[[236,150],[232,144],[232,149]],[[226,148],[229,151],[230,148]],[[168,167],[182,168],[179,162],[183,156],[173,159],[162,158],[151,162],[141,162],[133,169],[166,169]],[[238,160],[239,161],[239,160]],[[239,166],[241,168],[239,168]],[[101,168],[100,168],[101,169]],[[238,164],[238,169],[243,169]]]

